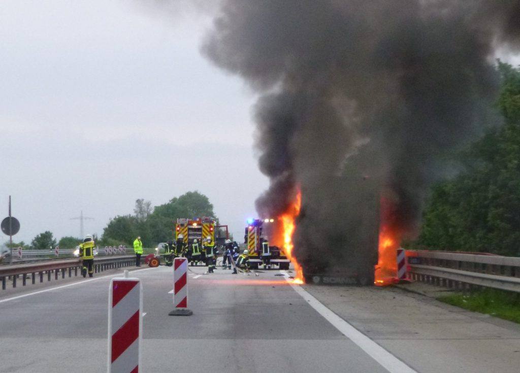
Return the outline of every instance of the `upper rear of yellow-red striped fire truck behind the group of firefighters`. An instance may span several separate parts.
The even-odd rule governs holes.
[[[226,236],[219,237],[217,234],[219,228],[226,229]],[[201,243],[202,239],[206,239],[207,236],[211,237],[211,242],[216,245],[220,245],[220,241],[223,241],[229,237],[227,225],[217,225],[215,218],[203,217],[197,219],[185,219],[179,218],[175,223],[175,239],[183,235],[183,240],[186,244],[191,245],[194,239],[198,239]]]

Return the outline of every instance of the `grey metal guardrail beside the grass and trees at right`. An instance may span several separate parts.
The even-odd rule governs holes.
[[[415,281],[456,289],[489,287],[520,292],[520,258],[463,252],[406,252]]]

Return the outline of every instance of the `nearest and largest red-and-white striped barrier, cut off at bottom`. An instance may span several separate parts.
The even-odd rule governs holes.
[[[142,285],[115,277],[108,296],[108,373],[137,373],[141,365]]]

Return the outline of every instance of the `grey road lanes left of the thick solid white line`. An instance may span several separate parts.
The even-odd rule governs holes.
[[[385,372],[315,311],[278,271],[188,272],[192,316],[173,309],[172,268],[131,272],[144,290],[146,372]],[[99,276],[102,277],[102,276]],[[110,278],[0,299],[2,372],[107,369]],[[11,295],[12,298],[12,295]]]

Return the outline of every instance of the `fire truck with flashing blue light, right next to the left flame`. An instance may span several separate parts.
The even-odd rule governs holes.
[[[266,237],[272,238],[275,232],[274,219],[249,219],[245,227],[244,243],[249,251],[249,264],[252,269],[257,269],[262,264],[262,242]],[[280,270],[289,269],[289,259],[278,246],[269,245],[271,265],[278,265]]]

